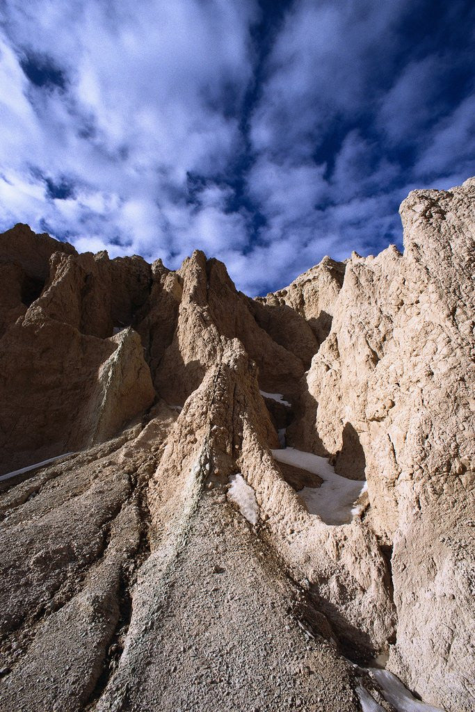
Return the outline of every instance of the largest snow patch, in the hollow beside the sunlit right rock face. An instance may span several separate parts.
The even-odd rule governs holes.
[[[328,460],[310,452],[288,447],[273,450],[272,454],[280,462],[307,470],[323,479],[320,487],[304,487],[298,493],[310,514],[317,514],[326,524],[348,524],[360,512],[360,506],[355,506],[355,502],[366,490],[366,482],[337,475]]]

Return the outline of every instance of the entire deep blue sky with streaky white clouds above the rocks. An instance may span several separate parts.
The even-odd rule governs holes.
[[[473,0],[0,0],[0,231],[265,294],[474,174]]]

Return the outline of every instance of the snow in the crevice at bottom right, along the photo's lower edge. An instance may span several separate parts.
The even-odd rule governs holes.
[[[387,702],[395,708],[396,712],[444,712],[440,707],[433,707],[424,702],[417,700],[404,687],[400,679],[393,675],[389,670],[381,670],[377,668],[358,668],[360,673],[369,673],[372,679],[380,687],[382,696]],[[362,712],[380,712],[382,706],[378,704],[367,689],[359,685],[356,688],[357,696],[360,700]],[[382,711],[384,712],[384,711]]]

